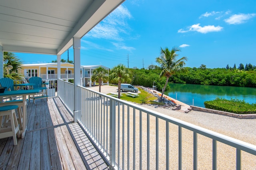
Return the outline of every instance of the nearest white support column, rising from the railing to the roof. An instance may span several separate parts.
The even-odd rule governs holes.
[[[78,85],[81,85],[80,81],[80,48],[81,39],[73,37],[73,49],[74,49],[74,122],[78,120],[78,103],[80,102]]]

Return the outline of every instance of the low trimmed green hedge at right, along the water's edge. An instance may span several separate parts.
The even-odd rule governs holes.
[[[216,97],[212,101],[205,101],[204,106],[207,109],[214,109],[218,111],[226,111],[236,114],[256,114],[256,104],[246,103],[239,99],[222,99]]]

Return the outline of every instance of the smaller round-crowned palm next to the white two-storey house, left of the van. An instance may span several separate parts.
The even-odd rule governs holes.
[[[99,92],[100,92],[100,87],[102,85],[103,81],[108,80],[108,70],[98,67],[92,71],[92,81],[98,81],[99,82]]]

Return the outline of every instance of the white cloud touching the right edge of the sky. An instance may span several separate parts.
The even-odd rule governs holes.
[[[242,24],[253,18],[256,14],[234,14],[224,21],[228,24]]]

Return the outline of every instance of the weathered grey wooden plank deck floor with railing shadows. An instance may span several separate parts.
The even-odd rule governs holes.
[[[25,138],[0,139],[0,169],[108,169],[60,99],[28,103]]]

